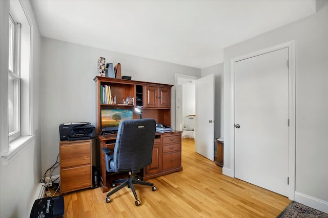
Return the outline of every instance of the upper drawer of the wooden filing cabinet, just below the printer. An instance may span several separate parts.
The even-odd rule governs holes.
[[[90,142],[62,144],[60,146],[61,168],[90,164]]]

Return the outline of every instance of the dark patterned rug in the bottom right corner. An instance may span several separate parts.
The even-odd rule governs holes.
[[[296,201],[292,201],[278,216],[277,218],[285,217],[315,217],[315,218],[328,218],[328,214],[316,210],[314,208],[305,206]]]

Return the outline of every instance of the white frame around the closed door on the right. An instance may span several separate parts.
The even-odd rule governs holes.
[[[235,177],[235,62],[255,56],[274,52],[288,47],[289,51],[289,191],[288,198],[295,199],[295,41],[281,43],[267,49],[245,54],[230,60],[231,64],[231,124],[230,124],[230,166],[232,177]],[[287,63],[286,63],[287,64]],[[286,181],[287,182],[287,181]]]

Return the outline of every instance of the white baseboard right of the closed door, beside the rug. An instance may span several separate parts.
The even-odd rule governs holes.
[[[326,201],[313,198],[297,191],[295,191],[295,201],[306,206],[312,207],[314,209],[320,210],[322,212],[328,213],[328,202]]]

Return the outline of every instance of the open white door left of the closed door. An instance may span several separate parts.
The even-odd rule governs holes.
[[[214,75],[197,80],[196,152],[214,161]]]

